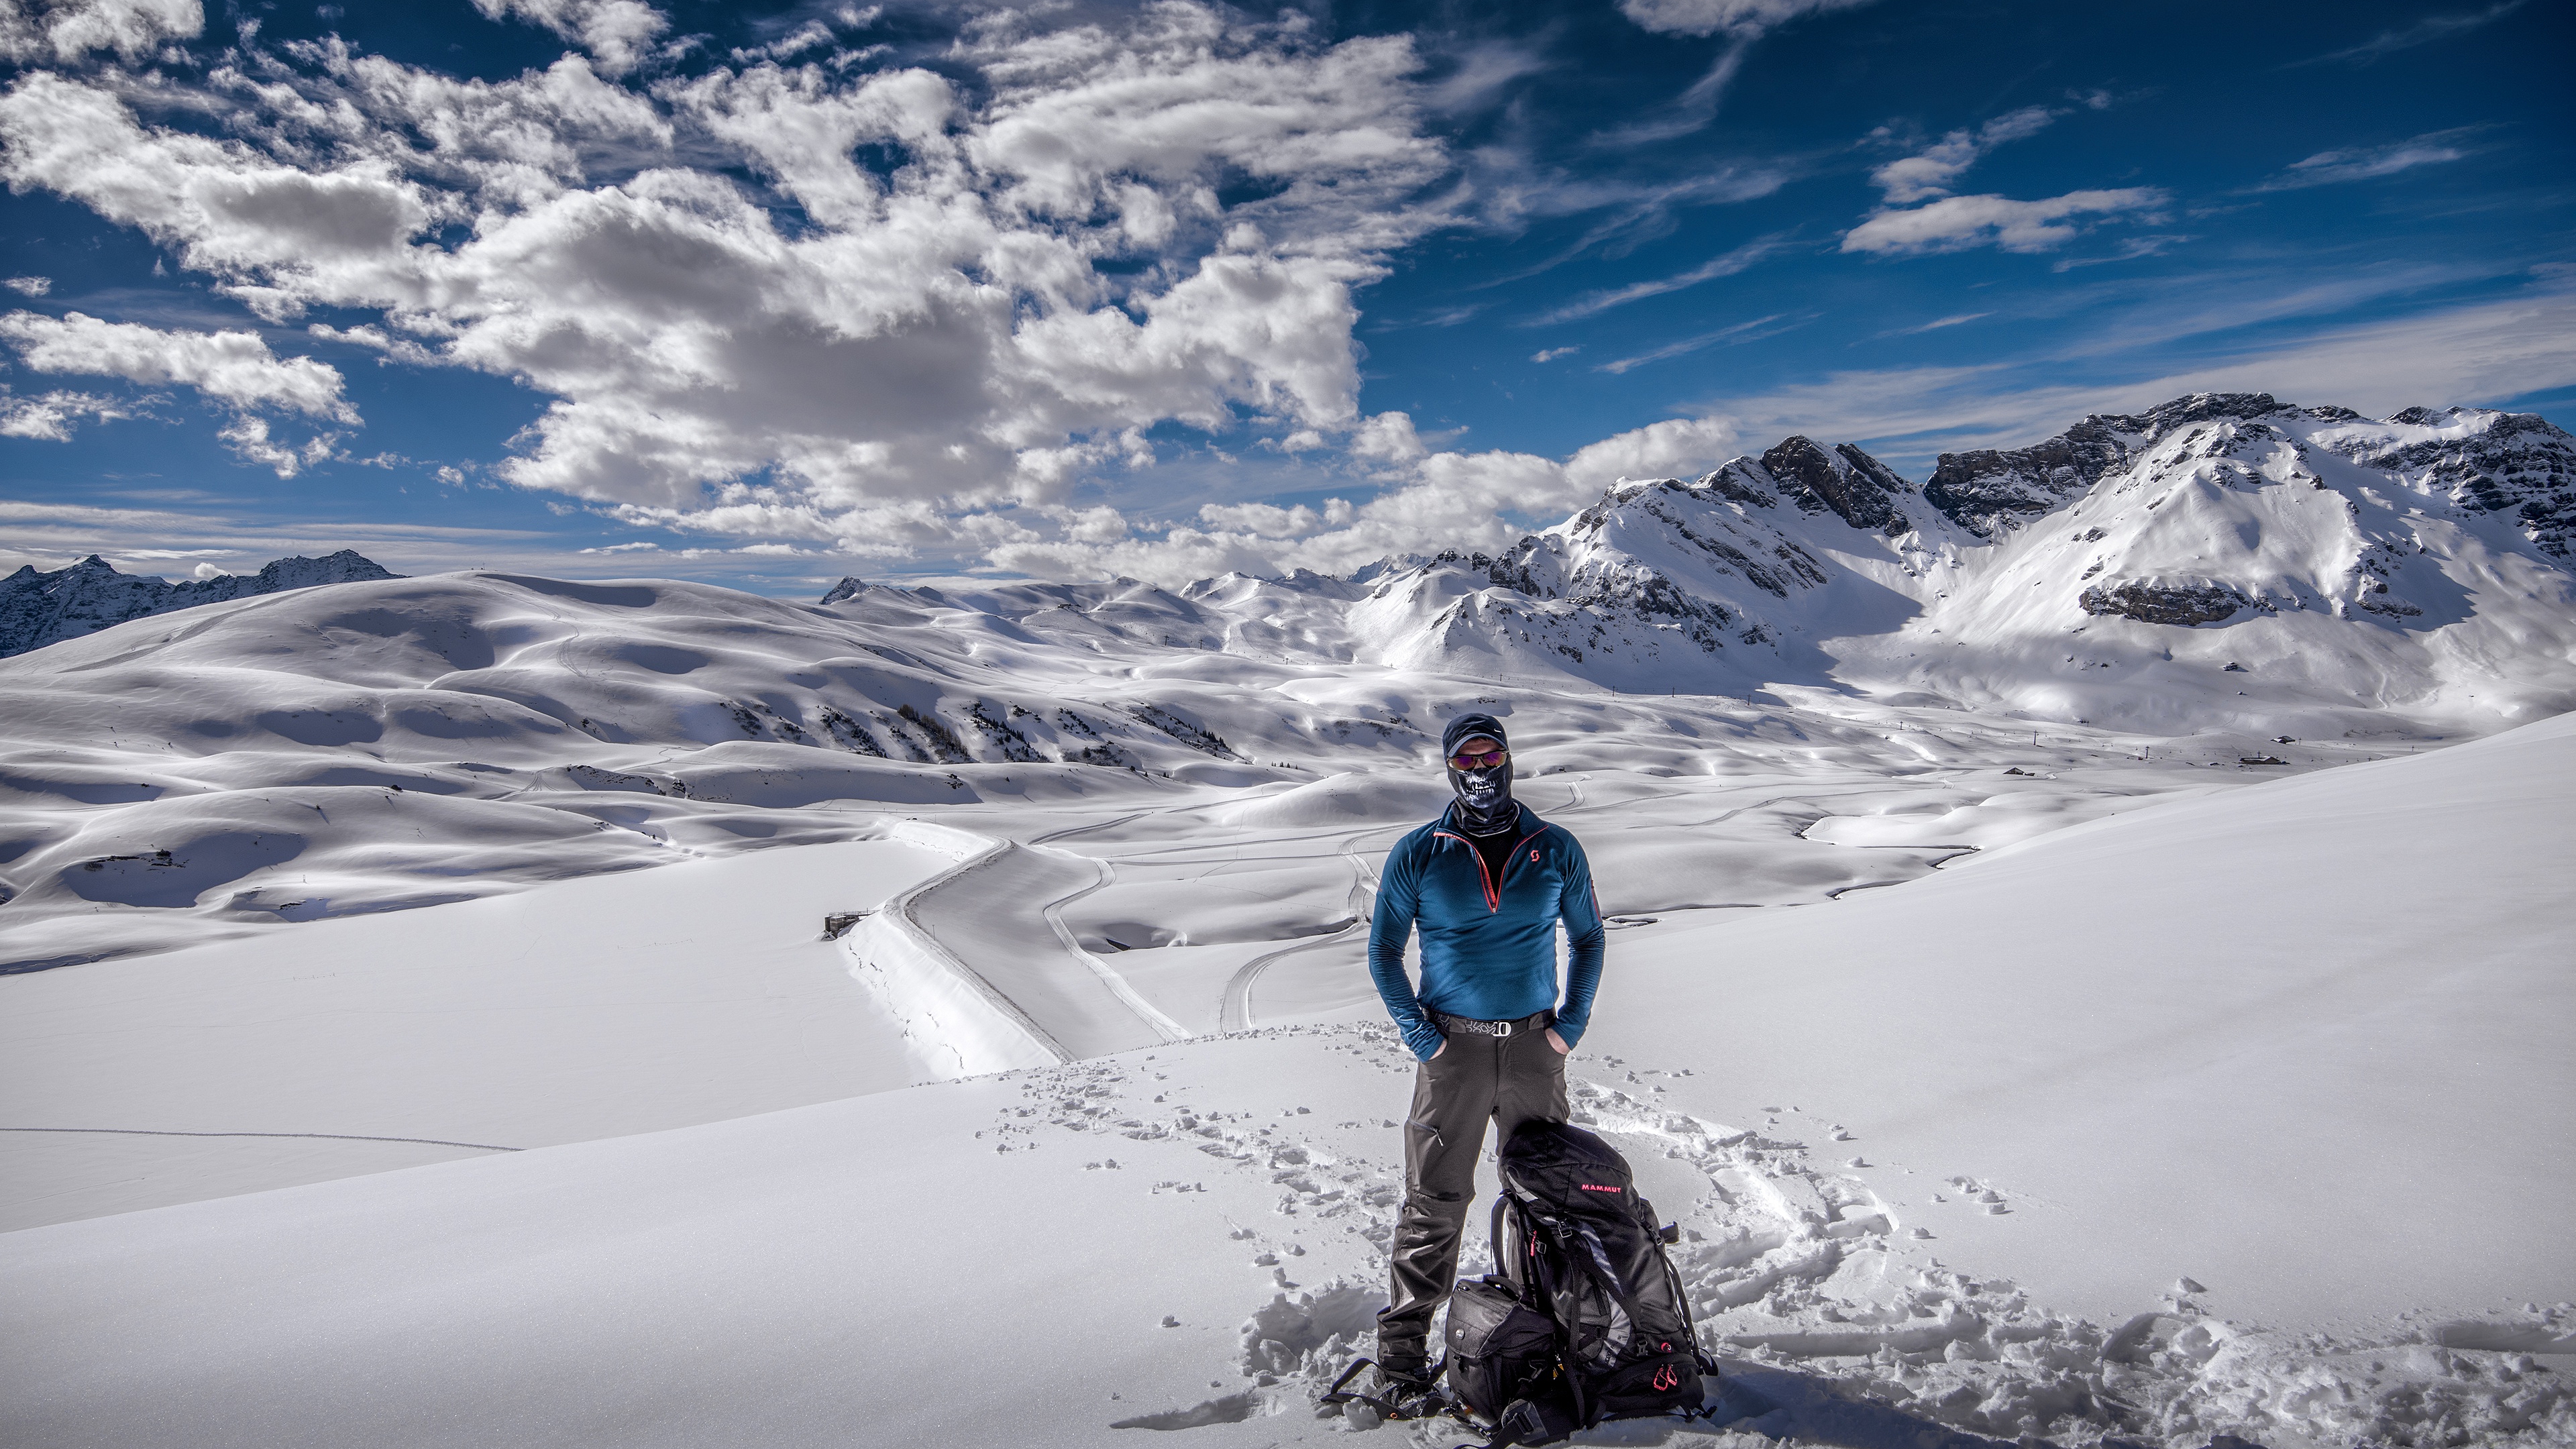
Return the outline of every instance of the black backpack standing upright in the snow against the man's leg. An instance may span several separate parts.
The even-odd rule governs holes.
[[[1700,1354],[1682,1276],[1628,1163],[1600,1137],[1530,1122],[1502,1147],[1494,1261],[1458,1284],[1448,1385],[1494,1444],[1553,1444],[1605,1418],[1700,1410]]]

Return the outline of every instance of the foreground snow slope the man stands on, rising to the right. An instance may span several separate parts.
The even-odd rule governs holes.
[[[1721,1423],[2566,1441],[2571,807],[2555,719],[1615,936],[1577,1109],[1685,1225]],[[1321,1441],[1404,1091],[1280,1026],[10,1232],[0,1431]]]

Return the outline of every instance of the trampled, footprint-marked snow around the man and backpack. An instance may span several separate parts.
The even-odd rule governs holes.
[[[1378,1024],[1275,1026],[1247,1039],[1314,1039],[1383,1075],[1401,1104],[1412,1057]],[[1386,1302],[1386,1245],[1404,1163],[1391,1119],[1321,1122],[1270,1093],[1226,1101],[1224,1088],[1177,1088],[1154,1055],[1015,1073],[1020,1101],[989,1132],[994,1152],[1069,1150],[1082,1171],[1133,1176],[1146,1194],[1203,1194],[1206,1178],[1262,1181],[1267,1217],[1231,1240],[1267,1269],[1267,1302],[1244,1318],[1231,1382],[1198,1403],[1128,1405],[1115,1428],[1185,1431],[1278,1418],[1275,1436],[1381,1431],[1422,1446],[1458,1444],[1463,1426],[1378,1426],[1376,1415],[1316,1408],[1316,1395],[1368,1354]],[[1589,1444],[1821,1441],[1844,1446],[2161,1444],[2213,1436],[2262,1444],[2566,1441],[2576,1395],[2532,1351],[2576,1351],[2576,1307],[2499,1325],[2403,1328],[2391,1336],[2282,1336],[2231,1325],[2190,1292],[2123,1323],[2050,1312],[2014,1281],[1942,1266],[1937,1240],[1860,1176],[1837,1171],[1839,1132],[1795,1109],[1759,1127],[1669,1111],[1656,1098],[1690,1075],[1577,1055],[1574,1122],[1602,1132],[1638,1173],[1659,1217],[1682,1225],[1674,1263],[1703,1346],[1721,1374],[1718,1410],[1700,1423],[1602,1426]],[[1662,1078],[1662,1080],[1659,1080]],[[1293,1096],[1293,1093],[1291,1093]],[[1814,1140],[1814,1145],[1811,1145]],[[1888,1168],[1888,1163],[1875,1163]],[[1492,1142],[1479,1168],[1492,1199]],[[2009,1214],[1999,1183],[1947,1178],[1945,1199]],[[1680,1204],[1680,1207],[1674,1207]],[[1461,1274],[1492,1266],[1484,1214],[1471,1214]],[[1172,1323],[1177,1325],[1177,1323]]]

